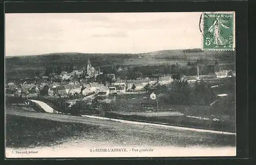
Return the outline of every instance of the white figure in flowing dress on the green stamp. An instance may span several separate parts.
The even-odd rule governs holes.
[[[219,46],[224,46],[228,45],[228,40],[223,38],[221,36],[221,26],[225,29],[229,29],[226,23],[229,23],[227,20],[221,19],[220,15],[217,16],[215,22],[210,26],[208,32],[214,33],[214,44],[216,45],[215,47]]]

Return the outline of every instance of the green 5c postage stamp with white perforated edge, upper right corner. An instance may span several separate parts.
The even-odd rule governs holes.
[[[234,12],[204,12],[200,21],[203,50],[234,50]]]

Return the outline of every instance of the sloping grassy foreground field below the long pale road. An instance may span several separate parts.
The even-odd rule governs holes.
[[[13,109],[12,111],[16,111]],[[11,113],[11,109],[8,110]],[[15,112],[12,112],[16,114]],[[63,115],[22,112],[7,115],[6,146],[235,146],[236,136],[124,124]],[[72,119],[72,120],[71,120]]]

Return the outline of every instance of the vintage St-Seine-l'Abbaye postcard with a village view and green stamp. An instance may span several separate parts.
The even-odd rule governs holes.
[[[6,14],[6,158],[236,156],[234,18]]]

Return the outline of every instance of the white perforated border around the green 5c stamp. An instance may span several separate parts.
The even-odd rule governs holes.
[[[223,13],[223,14],[233,14],[233,44],[232,49],[205,49],[204,48],[204,14],[214,14],[214,13]],[[201,21],[199,23],[199,28],[201,31],[201,49],[202,50],[208,50],[208,51],[234,51],[236,49],[236,12],[234,11],[219,11],[219,12],[202,12]]]

